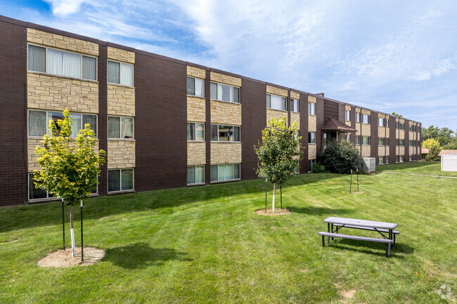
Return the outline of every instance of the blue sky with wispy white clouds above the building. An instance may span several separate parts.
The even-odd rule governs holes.
[[[0,14],[457,130],[456,1],[0,0]]]

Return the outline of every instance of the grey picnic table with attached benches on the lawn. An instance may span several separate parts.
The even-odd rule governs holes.
[[[390,250],[395,248],[395,236],[399,231],[394,230],[397,227],[396,223],[378,222],[375,220],[357,220],[355,218],[337,218],[330,216],[323,220],[327,223],[327,232],[318,232],[322,236],[322,246],[326,246],[325,237],[327,237],[327,244],[330,244],[330,237],[332,240],[336,238],[342,239],[357,239],[360,241],[377,242],[385,244],[385,256],[390,256]],[[378,232],[382,239],[377,237],[360,237],[352,234],[340,234],[339,230],[342,228],[368,230]]]

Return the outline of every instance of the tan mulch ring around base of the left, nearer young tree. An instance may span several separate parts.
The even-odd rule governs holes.
[[[65,251],[60,249],[49,253],[38,261],[41,267],[70,267],[70,266],[89,266],[97,263],[105,256],[103,249],[84,247],[84,261],[81,260],[81,247],[76,247],[76,256],[72,257],[72,249]]]

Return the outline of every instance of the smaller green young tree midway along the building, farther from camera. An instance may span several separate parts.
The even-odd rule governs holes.
[[[271,119],[271,128],[262,131],[262,144],[258,143],[255,153],[257,175],[273,183],[273,212],[276,194],[276,184],[282,185],[292,177],[296,168],[299,168],[302,155],[300,140],[297,132],[297,122],[287,126],[287,118]]]

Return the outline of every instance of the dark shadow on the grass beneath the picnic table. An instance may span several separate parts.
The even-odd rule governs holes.
[[[327,241],[327,239],[326,239]],[[356,239],[335,239],[334,241],[330,240],[331,247],[334,247],[338,250],[350,250],[356,252],[362,252],[367,254],[374,254],[376,256],[385,256],[385,244],[373,243],[373,242],[363,242]],[[328,246],[326,244],[326,246]],[[354,248],[356,247],[356,248]],[[373,249],[373,250],[369,250]],[[395,244],[395,248],[391,249],[390,257],[391,258],[404,258],[403,255],[396,255],[395,253],[403,253],[405,255],[413,254],[414,249],[411,246],[406,244]]]

